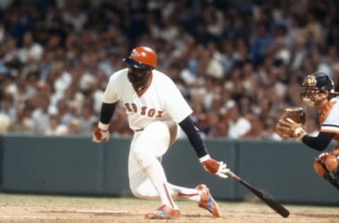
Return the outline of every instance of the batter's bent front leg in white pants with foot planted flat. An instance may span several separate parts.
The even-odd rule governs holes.
[[[169,191],[165,171],[158,157],[167,151],[171,141],[169,127],[164,122],[150,123],[141,133],[136,133],[129,155],[129,180],[131,191],[141,198],[160,197],[162,206],[158,213],[167,213],[178,217],[180,212]]]

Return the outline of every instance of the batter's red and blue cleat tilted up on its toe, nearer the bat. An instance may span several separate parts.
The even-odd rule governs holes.
[[[215,217],[220,217],[220,210],[218,204],[213,199],[212,195],[210,195],[210,191],[204,184],[199,184],[196,186],[200,193],[200,201],[198,206],[203,207],[209,212],[211,212]]]

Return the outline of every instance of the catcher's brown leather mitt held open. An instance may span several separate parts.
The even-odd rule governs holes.
[[[279,119],[276,131],[281,138],[299,138],[305,135],[306,114],[301,107],[289,107]]]

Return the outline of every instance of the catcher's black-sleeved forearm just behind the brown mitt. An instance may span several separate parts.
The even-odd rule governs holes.
[[[320,132],[316,137],[311,135],[304,135],[302,137],[302,143],[308,145],[314,150],[323,151],[326,150],[328,145],[331,143],[335,133],[324,133]]]

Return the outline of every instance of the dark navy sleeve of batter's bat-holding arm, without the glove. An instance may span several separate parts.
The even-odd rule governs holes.
[[[204,145],[203,139],[201,138],[198,128],[194,124],[191,116],[187,116],[186,119],[179,123],[179,126],[182,128],[184,133],[186,133],[187,138],[189,138],[189,142],[191,143],[192,147],[194,147],[198,158],[201,159],[206,157],[206,155],[208,155],[206,146]]]

